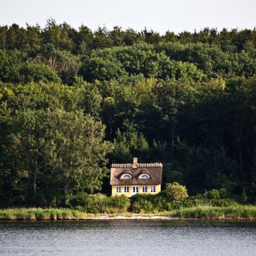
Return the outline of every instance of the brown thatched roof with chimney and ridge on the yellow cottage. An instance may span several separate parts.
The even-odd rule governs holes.
[[[110,185],[158,185],[162,183],[161,163],[113,163],[110,170]],[[122,179],[122,175],[129,173],[132,179]],[[150,179],[140,179],[140,175],[147,173]]]

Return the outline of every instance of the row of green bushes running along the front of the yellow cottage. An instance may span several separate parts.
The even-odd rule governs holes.
[[[85,192],[71,196],[69,207],[88,213],[118,213],[132,211],[136,213],[156,213],[200,206],[229,207],[237,202],[227,198],[224,189],[212,189],[203,194],[188,196],[185,186],[179,183],[167,185],[159,194],[136,194],[126,196],[106,196],[105,194],[87,194]]]

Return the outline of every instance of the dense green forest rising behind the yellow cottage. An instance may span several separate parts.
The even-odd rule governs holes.
[[[108,193],[134,156],[255,202],[255,46],[255,29],[0,26],[0,208]]]

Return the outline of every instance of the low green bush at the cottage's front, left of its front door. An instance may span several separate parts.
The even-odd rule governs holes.
[[[87,194],[85,192],[71,196],[71,208],[88,213],[117,213],[127,212],[130,199],[126,196],[111,196],[105,194]]]

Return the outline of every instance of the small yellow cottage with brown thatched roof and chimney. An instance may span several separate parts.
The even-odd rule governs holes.
[[[110,185],[112,196],[132,196],[138,193],[157,194],[161,191],[161,163],[112,163],[110,169]]]

